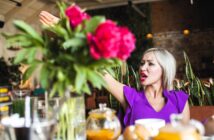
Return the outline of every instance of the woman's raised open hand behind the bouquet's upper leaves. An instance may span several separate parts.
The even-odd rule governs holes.
[[[39,21],[43,25],[52,26],[59,22],[59,18],[52,15],[51,13],[49,13],[47,11],[41,11],[41,13],[39,14]]]

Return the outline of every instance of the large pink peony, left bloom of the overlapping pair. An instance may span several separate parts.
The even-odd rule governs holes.
[[[120,46],[120,32],[116,24],[107,20],[101,23],[95,35],[88,34],[90,54],[94,59],[117,57]]]

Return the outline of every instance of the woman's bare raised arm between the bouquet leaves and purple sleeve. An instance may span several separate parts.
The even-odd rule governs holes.
[[[126,100],[123,93],[124,84],[115,80],[109,73],[105,73],[103,79],[106,82],[106,89],[120,102],[123,109],[126,109]]]

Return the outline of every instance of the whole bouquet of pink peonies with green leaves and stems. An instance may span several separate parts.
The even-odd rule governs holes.
[[[100,89],[105,85],[100,72],[105,69],[113,73],[112,67],[121,65],[135,48],[135,37],[126,27],[102,16],[90,17],[77,5],[58,6],[60,20],[43,27],[42,34],[23,21],[15,21],[20,32],[4,36],[10,44],[21,46],[14,63],[28,65],[25,79],[39,69],[40,83],[50,97],[57,94],[67,98],[65,93],[72,97],[61,107],[58,126],[58,136],[72,140],[81,137],[78,132],[85,134],[79,129],[85,125],[82,95],[90,94],[91,86]],[[41,58],[36,57],[38,53]]]

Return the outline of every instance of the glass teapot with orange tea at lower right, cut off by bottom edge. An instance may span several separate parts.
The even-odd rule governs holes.
[[[204,126],[197,120],[190,120],[187,124],[181,122],[182,115],[172,114],[171,124],[159,130],[153,140],[201,140],[204,135]]]

